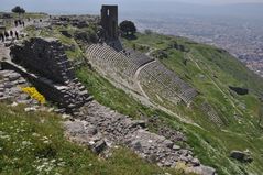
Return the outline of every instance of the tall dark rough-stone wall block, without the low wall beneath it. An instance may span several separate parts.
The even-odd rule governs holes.
[[[11,57],[12,62],[54,83],[64,84],[75,77],[62,43],[54,39],[33,37],[22,45],[14,45]]]

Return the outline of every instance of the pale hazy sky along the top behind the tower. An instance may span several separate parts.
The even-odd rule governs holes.
[[[145,10],[147,4],[151,8],[158,9],[160,3],[177,7],[174,2],[187,2],[196,4],[229,4],[229,3],[251,3],[262,2],[263,0],[0,0],[0,11],[10,11],[19,4],[26,11],[42,11],[48,13],[99,13],[102,3],[119,4],[120,11]],[[173,8],[172,7],[172,8]],[[191,6],[194,7],[194,6]],[[149,8],[150,9],[150,8]]]

